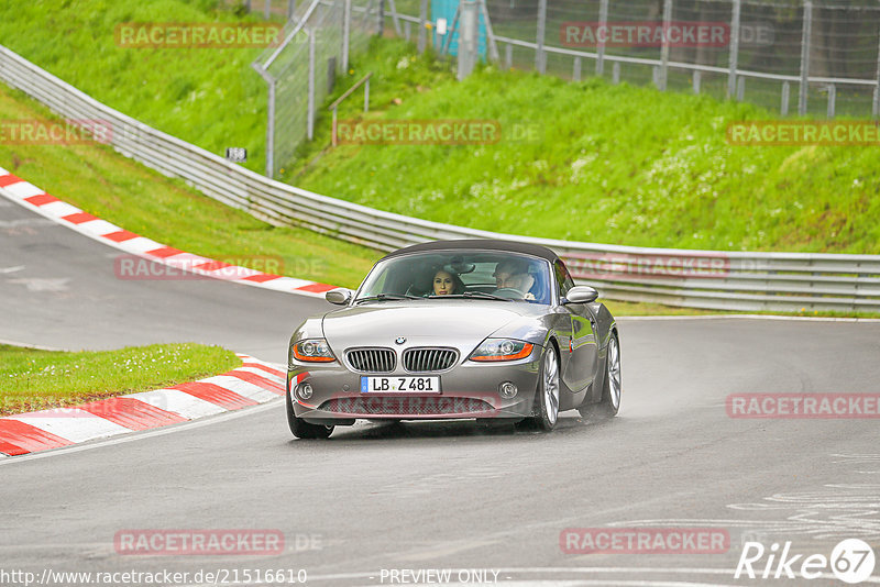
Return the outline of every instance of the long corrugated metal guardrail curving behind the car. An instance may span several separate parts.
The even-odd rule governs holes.
[[[267,179],[98,102],[0,46],[0,79],[66,119],[101,121],[128,157],[275,225],[378,251],[433,239],[542,244],[609,299],[746,311],[880,311],[880,255],[642,248],[512,236],[393,214]]]

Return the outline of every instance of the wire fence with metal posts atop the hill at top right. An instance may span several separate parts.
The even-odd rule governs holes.
[[[875,1],[482,1],[506,67],[654,84],[783,115],[877,117],[880,110]],[[419,1],[397,0],[396,9],[417,20]]]

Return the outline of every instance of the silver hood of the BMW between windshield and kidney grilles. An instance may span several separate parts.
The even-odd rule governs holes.
[[[482,300],[418,300],[354,306],[324,315],[331,348],[352,346],[453,346],[470,352],[513,322],[537,319],[546,308]],[[403,345],[395,340],[406,339]]]

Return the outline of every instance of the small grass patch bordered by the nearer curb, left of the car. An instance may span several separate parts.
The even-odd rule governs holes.
[[[202,344],[75,353],[0,345],[0,416],[161,389],[239,366],[234,353]]]

